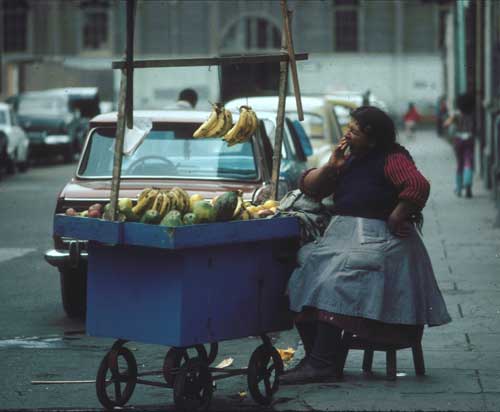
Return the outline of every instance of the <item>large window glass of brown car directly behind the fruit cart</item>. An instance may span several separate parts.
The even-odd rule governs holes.
[[[172,123],[151,130],[130,155],[124,155],[122,178],[174,177],[204,180],[257,180],[251,142],[228,147],[222,139],[193,139],[198,125]],[[80,177],[110,178],[115,128],[95,129],[80,164]]]

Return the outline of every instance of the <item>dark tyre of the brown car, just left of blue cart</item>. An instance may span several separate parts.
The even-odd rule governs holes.
[[[85,318],[87,311],[87,270],[60,269],[61,297],[70,318]]]

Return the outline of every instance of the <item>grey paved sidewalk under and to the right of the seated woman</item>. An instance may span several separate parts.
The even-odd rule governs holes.
[[[384,379],[383,353],[375,353],[368,377],[362,352],[353,351],[343,381],[281,387],[275,410],[500,410],[500,230],[493,229],[493,201],[479,180],[472,199],[453,194],[452,149],[431,131],[405,145],[431,181],[424,242],[453,321],[425,330],[425,377],[415,376],[411,349],[397,353],[396,382]]]

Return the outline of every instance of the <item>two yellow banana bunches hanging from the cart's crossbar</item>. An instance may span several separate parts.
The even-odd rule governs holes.
[[[196,129],[194,138],[222,137],[228,146],[246,142],[257,130],[257,115],[249,106],[240,107],[240,117],[233,124],[231,112],[220,103],[212,105],[212,113],[202,125]]]

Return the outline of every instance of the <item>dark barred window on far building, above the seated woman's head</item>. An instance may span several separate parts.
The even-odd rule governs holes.
[[[335,50],[358,51],[358,0],[335,0]]]

